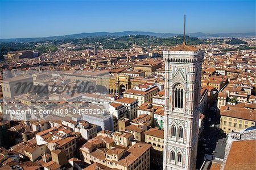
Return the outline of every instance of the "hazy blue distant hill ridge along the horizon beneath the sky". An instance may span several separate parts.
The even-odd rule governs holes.
[[[156,36],[160,38],[168,38],[172,36],[178,36],[182,34],[173,34],[173,33],[155,33],[155,32],[144,32],[144,31],[123,31],[123,32],[83,32],[80,34],[71,34],[71,35],[63,35],[63,36],[49,36],[43,38],[14,38],[14,39],[0,39],[0,42],[16,42],[16,43],[24,43],[24,42],[41,42],[47,40],[65,40],[65,39],[80,39],[86,38],[89,36],[126,36],[126,35],[150,35]],[[187,34],[188,36],[197,37],[197,38],[226,38],[226,37],[251,37],[255,36],[255,32],[249,33],[218,33],[218,34],[205,34],[203,32],[196,32]]]

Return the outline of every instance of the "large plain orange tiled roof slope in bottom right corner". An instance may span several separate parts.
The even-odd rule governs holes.
[[[256,169],[256,140],[234,141],[229,151],[224,170]]]

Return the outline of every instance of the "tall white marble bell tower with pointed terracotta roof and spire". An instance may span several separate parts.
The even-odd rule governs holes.
[[[185,42],[163,51],[165,61],[163,169],[196,169],[204,52]]]

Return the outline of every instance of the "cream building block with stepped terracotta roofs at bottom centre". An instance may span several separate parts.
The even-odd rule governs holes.
[[[99,135],[80,148],[84,161],[123,170],[150,169],[151,144],[138,142],[128,149],[118,147],[109,136]]]

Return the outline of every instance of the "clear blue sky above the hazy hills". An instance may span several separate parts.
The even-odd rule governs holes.
[[[0,38],[81,32],[255,32],[255,1],[0,0]]]

